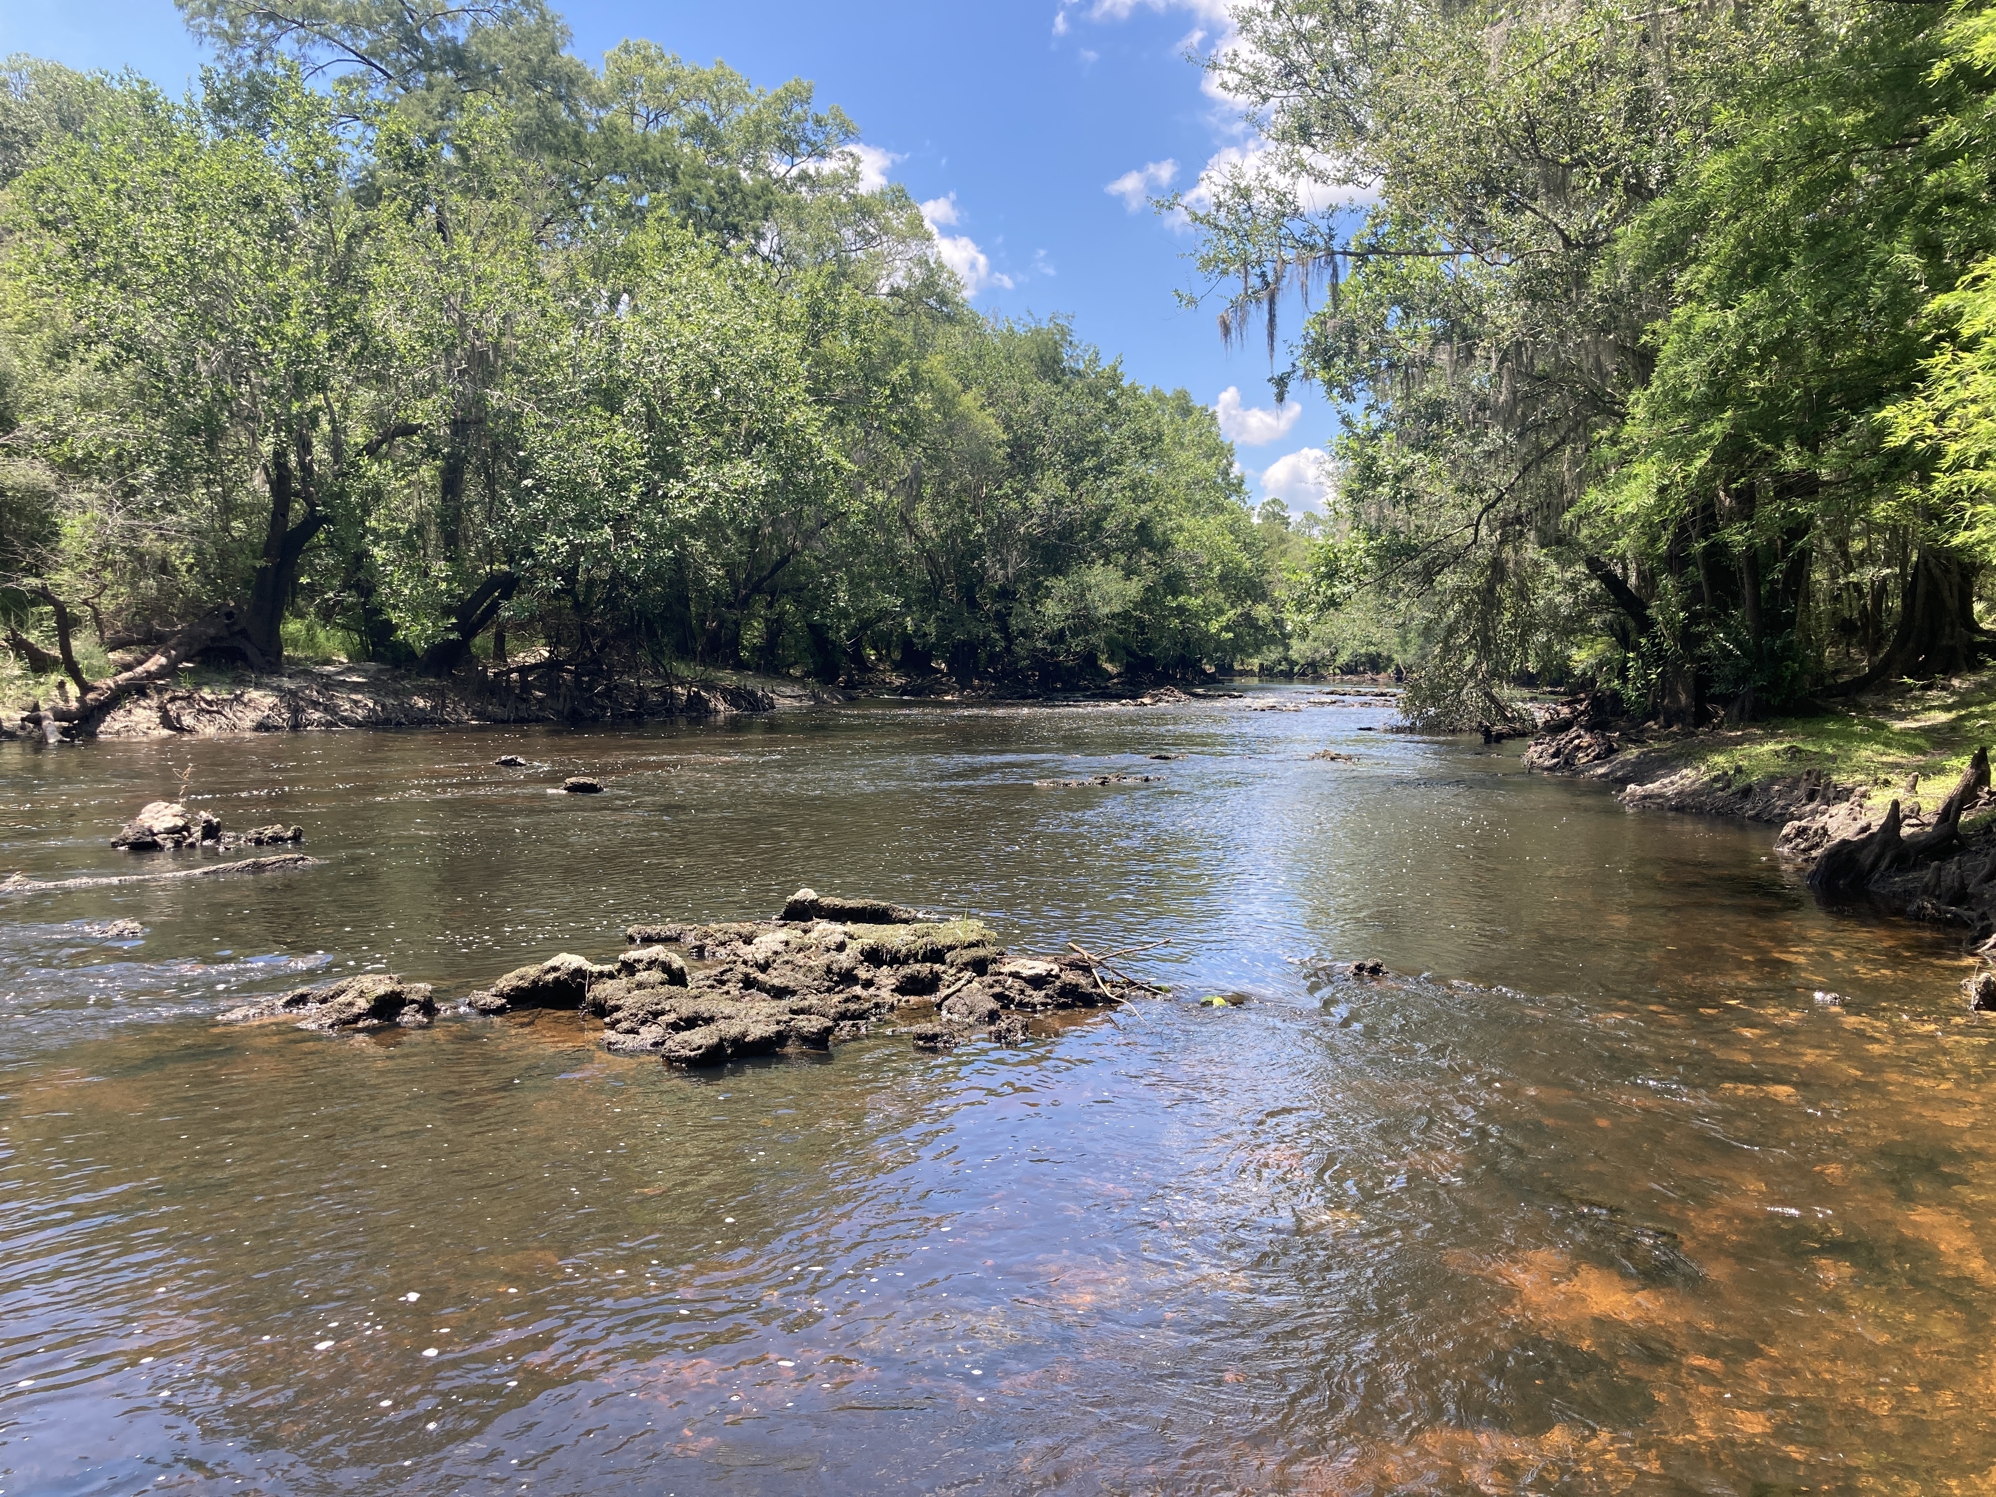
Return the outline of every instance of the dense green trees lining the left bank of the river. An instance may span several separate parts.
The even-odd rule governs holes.
[[[1307,633],[1315,539],[1212,411],[970,311],[808,84],[595,72],[537,0],[182,10],[196,98],[0,78],[6,579],[439,671],[505,631],[1060,683]]]

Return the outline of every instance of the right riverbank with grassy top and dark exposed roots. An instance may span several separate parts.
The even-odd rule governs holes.
[[[1824,898],[1996,936],[1996,671],[1705,731],[1555,711],[1525,764],[1615,786],[1629,810],[1778,826],[1774,852]]]

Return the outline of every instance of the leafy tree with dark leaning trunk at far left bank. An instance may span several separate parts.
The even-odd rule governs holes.
[[[263,82],[188,106],[124,84],[10,190],[4,277],[22,445],[112,521],[82,565],[138,547],[170,575],[156,607],[234,601],[259,669],[307,547],[411,435],[369,399],[367,226],[331,116],[295,74]]]

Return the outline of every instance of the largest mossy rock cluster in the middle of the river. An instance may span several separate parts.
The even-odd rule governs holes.
[[[878,900],[798,890],[776,920],[631,926],[615,962],[563,954],[471,994],[467,1014],[577,1010],[603,1020],[617,1054],[715,1066],[784,1048],[824,1050],[872,1024],[950,1050],[984,1030],[1000,1044],[1028,1020],[1118,994],[1084,956],[1008,956],[982,920],[938,920]]]

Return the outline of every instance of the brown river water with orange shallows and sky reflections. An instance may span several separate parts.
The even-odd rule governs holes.
[[[0,1493],[1996,1489],[1958,946],[1766,830],[1248,705],[0,748],[0,870],[128,868],[190,762],[327,860],[0,906]],[[1108,768],[1166,778],[1030,784]],[[1172,936],[1176,996],[705,1076],[212,1022],[806,882]]]

